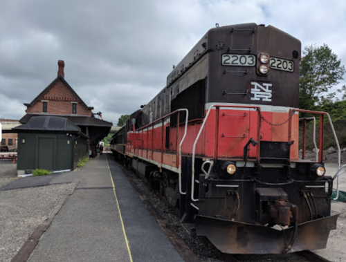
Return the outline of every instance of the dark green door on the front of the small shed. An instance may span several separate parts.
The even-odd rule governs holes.
[[[39,138],[39,169],[54,170],[55,139]]]

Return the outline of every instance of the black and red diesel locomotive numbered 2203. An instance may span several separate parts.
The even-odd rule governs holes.
[[[323,150],[299,157],[298,39],[273,26],[210,29],[167,85],[113,135],[111,150],[221,252],[282,254],[327,244],[334,177]]]

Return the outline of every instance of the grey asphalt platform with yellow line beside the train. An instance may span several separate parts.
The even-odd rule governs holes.
[[[80,171],[75,191],[28,261],[183,261],[107,155],[91,160]]]

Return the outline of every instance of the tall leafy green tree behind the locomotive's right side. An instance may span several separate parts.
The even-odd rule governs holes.
[[[332,102],[336,93],[329,93],[330,88],[343,79],[345,66],[332,50],[323,46],[307,46],[300,62],[300,109],[315,110],[317,106]],[[341,92],[338,89],[338,92]]]

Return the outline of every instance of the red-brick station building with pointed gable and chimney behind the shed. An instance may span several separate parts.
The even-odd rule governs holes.
[[[93,154],[96,145],[106,137],[113,125],[98,118],[92,112],[93,107],[87,106],[73,88],[65,80],[64,61],[59,60],[57,78],[39,93],[27,106],[26,115],[19,122],[26,124],[30,118],[38,115],[55,115],[68,118],[76,124],[82,133],[89,136],[89,146]]]

